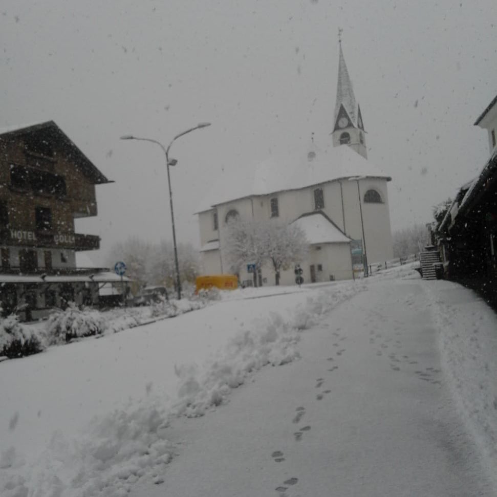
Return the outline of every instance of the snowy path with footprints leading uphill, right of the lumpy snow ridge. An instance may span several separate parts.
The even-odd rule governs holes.
[[[436,283],[372,280],[304,332],[300,360],[175,420],[179,457],[131,495],[495,495],[442,366]]]

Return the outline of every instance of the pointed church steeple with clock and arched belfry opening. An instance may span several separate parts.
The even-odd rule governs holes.
[[[358,154],[368,158],[364,137],[364,125],[361,110],[354,95],[354,88],[349,76],[347,64],[342,51],[342,30],[338,30],[340,54],[338,59],[338,82],[336,87],[335,125],[333,127],[333,146],[349,145]]]

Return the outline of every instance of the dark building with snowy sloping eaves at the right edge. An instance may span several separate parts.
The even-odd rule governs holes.
[[[488,133],[489,158],[459,189],[437,235],[446,275],[497,306],[497,96],[474,124]]]

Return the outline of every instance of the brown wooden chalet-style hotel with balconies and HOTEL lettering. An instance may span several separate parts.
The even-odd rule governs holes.
[[[100,246],[76,233],[76,218],[97,215],[95,185],[109,180],[53,121],[0,131],[0,302],[36,319],[68,302],[96,304],[116,279],[78,270],[76,252]]]

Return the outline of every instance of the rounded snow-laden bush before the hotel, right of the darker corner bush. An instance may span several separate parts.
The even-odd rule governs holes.
[[[48,342],[68,342],[73,338],[100,335],[105,331],[106,320],[99,311],[78,309],[70,304],[65,311],[54,312],[47,321]]]

